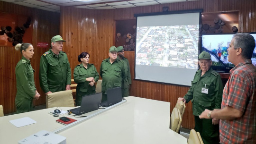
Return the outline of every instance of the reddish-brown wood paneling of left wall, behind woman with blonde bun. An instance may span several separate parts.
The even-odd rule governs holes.
[[[59,34],[59,14],[36,8],[27,8],[4,1],[0,1],[0,12],[32,17],[32,45],[34,46],[35,54],[30,60],[32,67],[36,71],[34,77],[37,91],[41,95],[39,100],[34,100],[34,104],[44,104],[46,99],[39,86],[38,79],[39,62],[41,55],[48,51],[49,48],[37,48],[37,42],[50,42],[52,36]],[[0,104],[3,105],[5,114],[16,111],[15,67],[20,59],[21,54],[19,51],[15,51],[14,47],[0,46]]]

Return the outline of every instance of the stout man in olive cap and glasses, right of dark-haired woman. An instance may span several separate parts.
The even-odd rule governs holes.
[[[102,77],[102,102],[107,100],[106,91],[108,89],[121,86],[122,80],[125,80],[127,77],[124,61],[117,59],[117,53],[118,49],[115,46],[111,46],[109,50],[109,58],[102,60],[101,63],[100,75]]]

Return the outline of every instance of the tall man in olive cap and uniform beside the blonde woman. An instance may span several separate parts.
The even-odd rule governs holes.
[[[50,50],[41,56],[39,80],[45,94],[70,90],[71,68],[66,53],[62,51],[63,42],[66,41],[60,35],[54,36]]]

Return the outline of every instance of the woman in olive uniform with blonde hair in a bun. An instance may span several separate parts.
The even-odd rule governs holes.
[[[32,111],[33,99],[39,99],[40,94],[37,93],[34,72],[31,67],[30,58],[33,57],[34,48],[30,43],[18,43],[15,50],[20,51],[22,58],[18,61],[15,68],[17,93],[15,105],[17,113]]]

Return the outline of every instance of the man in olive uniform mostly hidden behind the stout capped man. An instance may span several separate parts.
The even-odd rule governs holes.
[[[124,61],[125,69],[127,72],[127,77],[125,80],[122,81],[122,96],[127,97],[129,96],[129,88],[131,85],[131,72],[130,72],[130,65],[128,59],[124,57],[124,48],[123,46],[117,47],[118,49],[118,59],[122,59]]]

